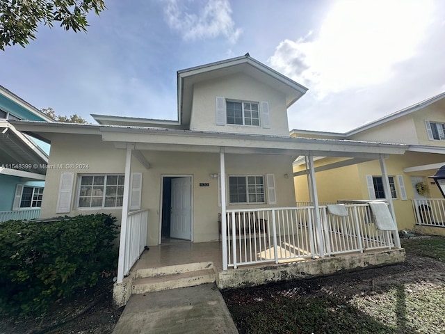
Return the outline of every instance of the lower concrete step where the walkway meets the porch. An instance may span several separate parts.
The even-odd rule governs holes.
[[[131,286],[131,294],[144,294],[145,292],[176,289],[177,287],[194,287],[204,283],[213,283],[215,279],[216,273],[213,268],[138,278]]]

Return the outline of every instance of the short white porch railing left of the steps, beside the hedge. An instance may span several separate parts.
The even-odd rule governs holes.
[[[125,240],[124,276],[147,246],[148,209],[129,212],[127,216],[127,239]]]

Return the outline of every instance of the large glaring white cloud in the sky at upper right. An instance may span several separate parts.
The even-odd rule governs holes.
[[[432,10],[431,1],[337,1],[317,34],[283,40],[268,62],[318,99],[378,85],[414,56]]]

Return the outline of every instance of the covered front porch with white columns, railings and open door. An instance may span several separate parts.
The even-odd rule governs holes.
[[[191,141],[189,135],[181,133],[182,142],[169,146],[129,143],[129,136],[126,136],[126,142],[116,142],[116,136],[110,137],[115,141],[115,148],[126,150],[118,279],[115,285],[115,300],[121,301],[118,302],[121,305],[131,293],[143,292],[143,289],[136,287],[139,285],[134,282],[136,279],[143,279],[147,283],[148,279],[164,280],[172,277],[170,275],[187,273],[187,279],[193,283],[213,280],[219,287],[253,285],[274,281],[280,276],[276,271],[277,266],[286,266],[289,271],[295,271],[295,275],[289,273],[289,277],[302,276],[297,272],[316,276],[348,269],[348,263],[333,264],[339,261],[334,259],[340,255],[354,257],[355,260],[351,260],[353,267],[355,264],[366,267],[366,263],[379,265],[392,261],[360,260],[370,254],[403,253],[390,197],[387,203],[391,214],[388,214],[394,221],[391,230],[378,230],[375,227],[366,203],[346,205],[346,214],[342,216],[328,212],[326,205],[318,203],[314,155],[345,158],[340,163],[323,168],[338,168],[377,159],[382,167],[382,178],[387,180],[385,159],[389,154],[403,154],[404,145],[277,137],[261,137],[259,142],[257,137],[243,136],[242,140],[238,140],[223,134],[212,134],[207,145],[202,145],[201,141]],[[220,145],[221,141],[214,141],[218,136],[224,137],[225,146]],[[305,173],[311,190],[311,202],[292,205],[296,202],[293,177],[290,177],[291,164],[301,156],[306,157]],[[132,157],[139,163],[136,159],[132,162]],[[167,164],[173,157],[183,158],[181,166],[175,169]],[[138,169],[133,169],[133,165]],[[216,169],[218,165],[219,170]],[[152,166],[156,166],[156,169]],[[189,175],[192,205],[190,241],[168,246],[161,244],[160,188],[147,193],[152,202],[146,202],[144,195],[142,201],[138,199],[142,207],[151,205],[150,209],[131,211],[130,194],[133,188],[130,183],[136,174],[134,172],[145,180],[145,185],[162,184],[160,181],[164,175]],[[232,190],[229,189],[232,184],[228,182],[231,175],[261,175],[260,184],[264,187],[260,191],[264,194],[262,203],[252,205],[247,201],[232,201]],[[203,182],[206,177],[213,180]],[[387,182],[384,186],[389,189]],[[198,198],[198,192],[205,195]],[[134,191],[133,195],[135,193],[140,194],[140,191]],[[206,235],[209,239],[204,238]],[[211,252],[200,249],[208,244],[207,241],[213,241],[210,243]],[[147,244],[150,247],[148,251],[145,248]],[[177,251],[181,247],[188,247],[188,250]],[[141,254],[143,256],[138,261]],[[200,257],[198,262],[193,260],[195,256]],[[177,263],[177,258],[187,263]],[[395,262],[401,261],[401,256],[396,258],[398,260]],[[296,269],[297,264],[305,267]],[[251,270],[261,274],[252,273]],[[199,278],[191,274],[193,271],[200,272]]]

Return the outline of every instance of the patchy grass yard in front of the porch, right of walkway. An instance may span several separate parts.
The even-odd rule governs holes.
[[[404,239],[402,246],[407,254],[445,262],[445,237]],[[445,333],[444,266],[410,261],[223,295],[240,334]]]

